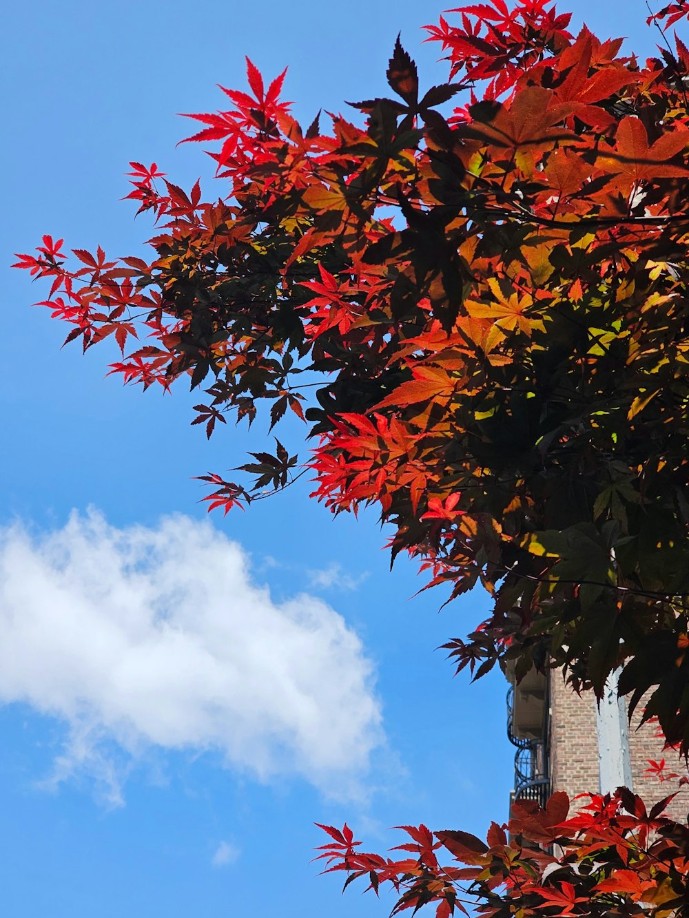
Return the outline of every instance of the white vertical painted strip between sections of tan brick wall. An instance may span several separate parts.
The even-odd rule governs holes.
[[[627,706],[617,696],[617,681],[621,667],[607,677],[604,695],[596,708],[598,733],[598,789],[602,794],[614,793],[622,785],[633,790]]]

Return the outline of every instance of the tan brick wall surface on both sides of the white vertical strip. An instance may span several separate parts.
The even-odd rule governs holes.
[[[638,711],[642,710],[643,702]],[[644,770],[650,758],[663,756],[662,742],[655,737],[655,727],[638,727],[638,715],[629,726],[629,757],[634,792],[646,802],[661,800],[676,788],[676,782],[661,784],[658,778],[647,776]],[[676,754],[665,755],[672,771],[686,773]],[[558,670],[550,672],[550,783],[552,790],[564,790],[570,799],[576,794],[598,790],[598,737],[596,732],[595,700],[591,692],[580,698],[565,685]],[[673,819],[685,822],[689,811],[689,789],[684,787],[668,808]]]

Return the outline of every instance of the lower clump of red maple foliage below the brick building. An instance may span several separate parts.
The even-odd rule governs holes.
[[[686,914],[689,839],[686,826],[662,815],[669,800],[647,812],[620,788],[592,795],[569,819],[566,794],[553,794],[545,810],[518,800],[508,824],[491,824],[487,844],[467,832],[400,826],[411,840],[394,849],[404,853],[397,860],[358,851],[346,825],[322,826],[332,840],[319,857],[326,872],[347,872],[345,887],[361,877],[376,892],[392,884],[400,894],[392,914],[431,902],[436,918],[469,915],[467,907],[491,918]],[[441,865],[448,853],[466,866]]]

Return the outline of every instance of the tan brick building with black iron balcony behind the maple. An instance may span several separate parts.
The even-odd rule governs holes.
[[[646,769],[649,759],[657,761],[663,756],[662,741],[655,736],[653,725],[638,726],[636,713],[627,729],[625,715],[621,705],[618,735],[627,744],[628,756],[624,757],[630,769],[624,782],[616,783],[631,787],[647,804],[661,800],[676,789],[676,782],[661,783]],[[508,736],[516,746],[513,799],[543,801],[549,793],[564,790],[571,800],[577,794],[610,789],[604,726],[593,693],[580,698],[565,685],[558,670],[548,675],[532,670],[519,685],[511,686],[507,717]],[[675,756],[672,750],[664,754],[670,769],[681,773],[683,763]],[[674,819],[686,820],[688,810],[689,789],[683,787],[669,813]]]

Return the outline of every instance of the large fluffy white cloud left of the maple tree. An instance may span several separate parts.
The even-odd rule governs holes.
[[[181,516],[0,531],[0,703],[13,701],[66,723],[54,780],[97,778],[114,803],[155,748],[220,751],[258,778],[346,796],[382,741],[343,618],[306,594],[274,601],[239,544]]]

